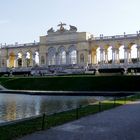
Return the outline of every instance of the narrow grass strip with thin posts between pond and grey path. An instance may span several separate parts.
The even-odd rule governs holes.
[[[131,98],[128,98],[127,102],[130,101]],[[118,99],[114,106],[114,101],[103,101],[101,103],[101,111],[114,108],[116,106],[120,106],[124,104],[123,99]],[[81,107],[78,109],[78,118],[95,114],[99,112],[99,105],[88,105],[85,107]],[[77,110],[73,109],[66,112],[56,113],[50,116],[45,117],[45,129],[49,129],[53,126],[57,126],[60,124],[64,124],[69,121],[73,121],[77,119]],[[12,125],[1,126],[0,127],[0,140],[11,140],[17,137],[22,137],[26,134],[33,133],[35,131],[39,131],[42,128],[42,117],[38,117],[36,119],[31,119],[29,121],[24,121]]]

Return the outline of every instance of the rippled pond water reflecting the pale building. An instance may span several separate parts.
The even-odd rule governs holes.
[[[0,94],[0,122],[11,121],[46,112],[68,110],[97,101],[95,97],[31,96]]]

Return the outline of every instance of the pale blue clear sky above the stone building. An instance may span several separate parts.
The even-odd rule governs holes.
[[[60,22],[95,37],[140,30],[140,0],[0,0],[0,43],[39,41]]]

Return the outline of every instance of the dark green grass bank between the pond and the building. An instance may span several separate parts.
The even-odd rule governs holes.
[[[140,91],[140,76],[5,77],[0,83],[17,90]]]

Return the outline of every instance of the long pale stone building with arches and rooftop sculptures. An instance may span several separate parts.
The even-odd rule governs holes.
[[[75,26],[70,25],[69,29],[66,29],[65,25],[60,23],[56,31],[50,28],[47,35],[40,36],[39,42],[2,45],[0,67],[26,68],[66,65],[94,68],[139,67],[139,32],[94,37],[87,32],[77,32]],[[133,48],[135,48],[134,58],[131,56]],[[120,54],[121,51],[123,53]],[[120,58],[122,54],[123,57]]]

